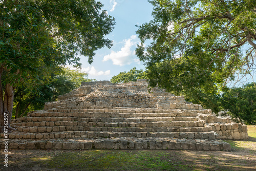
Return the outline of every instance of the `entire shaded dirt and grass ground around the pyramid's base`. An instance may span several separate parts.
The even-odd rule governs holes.
[[[0,170],[256,170],[256,126],[231,152],[175,150],[10,150]],[[4,152],[1,151],[1,156]]]

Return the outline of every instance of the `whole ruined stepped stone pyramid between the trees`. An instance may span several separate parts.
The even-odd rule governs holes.
[[[9,149],[190,149],[229,151],[221,139],[247,139],[247,126],[212,115],[145,80],[82,86],[12,120]],[[3,137],[3,134],[2,134]],[[4,147],[2,143],[2,148]]]

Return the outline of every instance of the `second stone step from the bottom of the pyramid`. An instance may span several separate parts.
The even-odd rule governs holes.
[[[109,131],[62,131],[62,132],[42,132],[42,133],[12,133],[9,139],[56,139],[56,138],[111,138],[111,137],[169,137],[188,139],[216,139],[216,132],[109,132]]]

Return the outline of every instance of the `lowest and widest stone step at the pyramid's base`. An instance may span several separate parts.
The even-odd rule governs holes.
[[[5,142],[5,143],[4,143]],[[8,143],[6,143],[8,142]],[[176,138],[98,138],[56,140],[2,140],[8,149],[183,149],[198,151],[230,151],[229,143],[221,140]]]

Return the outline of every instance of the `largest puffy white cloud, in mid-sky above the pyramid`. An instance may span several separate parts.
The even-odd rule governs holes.
[[[129,39],[124,40],[124,46],[120,51],[111,51],[111,54],[105,55],[103,61],[112,60],[113,65],[124,66],[129,65],[134,61],[134,58],[131,55],[134,55],[135,52],[131,50],[131,47],[137,43],[135,40],[136,35],[132,35]]]

